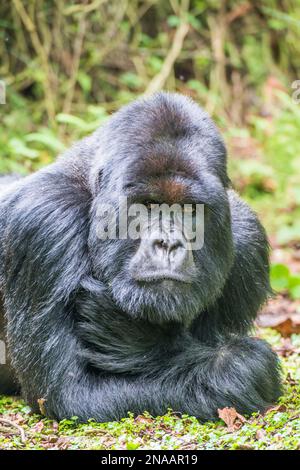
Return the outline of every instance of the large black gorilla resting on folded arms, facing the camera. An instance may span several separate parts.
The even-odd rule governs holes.
[[[99,204],[120,196],[203,204],[203,246],[188,254],[172,228],[147,244],[100,239]],[[230,188],[211,119],[181,95],[137,100],[53,165],[0,186],[12,364],[0,365],[0,392],[17,383],[33,410],[43,398],[48,416],[82,421],[264,410],[280,395],[280,369],[248,334],[268,269],[265,232]]]

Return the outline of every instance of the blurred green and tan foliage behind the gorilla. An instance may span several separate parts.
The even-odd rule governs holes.
[[[217,121],[236,189],[300,242],[298,0],[12,0],[0,5],[0,172],[28,173],[142,93]]]

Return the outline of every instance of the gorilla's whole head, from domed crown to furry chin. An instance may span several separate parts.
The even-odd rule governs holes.
[[[233,263],[222,138],[190,99],[159,93],[116,113],[98,139],[91,173],[93,275],[128,315],[189,323],[220,295]],[[145,219],[143,212],[137,223],[129,213],[127,228],[132,221],[141,234],[148,230],[146,237],[121,236],[119,229],[106,240],[99,236],[99,224],[105,220],[108,230],[113,216],[101,208],[113,207],[119,224],[134,204],[142,204],[146,215],[160,204],[183,207],[183,214],[187,207],[192,226],[204,233],[203,245],[191,244],[174,214],[166,225],[160,215]],[[197,207],[204,207],[198,223]]]

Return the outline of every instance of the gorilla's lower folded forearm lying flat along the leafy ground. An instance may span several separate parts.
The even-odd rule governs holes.
[[[40,388],[47,400],[47,414],[57,419],[78,416],[83,421],[111,421],[128,411],[161,415],[168,408],[213,419],[218,408],[225,406],[241,413],[264,410],[279,395],[278,378],[269,372],[276,364],[275,355],[259,340],[236,338],[218,348],[190,344],[184,352],[168,357],[168,362],[165,354],[160,368],[153,371],[147,370],[145,361],[147,373],[130,377],[88,372],[78,358],[80,346],[74,335],[61,329],[58,333],[60,342],[56,354],[51,354],[52,364],[47,361],[47,351],[41,351],[44,369],[37,370],[39,375],[34,377],[27,372],[26,378],[33,408],[37,408]],[[60,362],[59,368],[52,362],[55,360]],[[48,383],[41,383],[46,373]],[[30,396],[33,383],[35,390]]]

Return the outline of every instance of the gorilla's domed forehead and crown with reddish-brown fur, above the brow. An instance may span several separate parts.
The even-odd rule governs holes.
[[[226,184],[226,150],[213,121],[185,96],[158,93],[118,111],[105,126],[109,186],[171,174],[211,173]],[[108,181],[107,180],[107,181]]]

